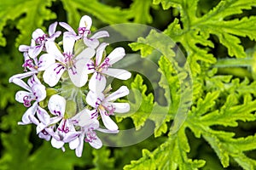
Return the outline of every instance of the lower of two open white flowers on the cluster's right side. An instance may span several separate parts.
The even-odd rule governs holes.
[[[86,102],[88,105],[95,108],[95,110],[91,111],[91,118],[97,117],[98,113],[100,113],[102,122],[108,130],[118,130],[118,126],[110,118],[110,115],[113,115],[114,112],[127,112],[130,110],[130,105],[128,103],[113,103],[113,100],[124,97],[127,94],[129,94],[129,89],[125,86],[120,87],[117,91],[113,92],[113,94],[109,95],[90,91],[86,96]]]

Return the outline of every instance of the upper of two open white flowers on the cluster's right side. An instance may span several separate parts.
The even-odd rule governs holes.
[[[92,77],[90,78],[89,88],[94,92],[102,92],[106,87],[107,80],[105,75],[115,77],[121,80],[127,80],[131,77],[131,73],[129,71],[125,71],[123,69],[109,68],[125,56],[124,48],[115,48],[108,55],[108,57],[102,59],[103,52],[107,45],[107,43],[103,42],[96,49],[96,60],[90,60],[87,64],[88,72],[93,73]]]

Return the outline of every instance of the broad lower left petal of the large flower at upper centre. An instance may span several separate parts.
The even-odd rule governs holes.
[[[60,63],[55,63],[50,65],[43,74],[44,82],[46,82],[50,87],[54,87],[59,80],[66,68]]]

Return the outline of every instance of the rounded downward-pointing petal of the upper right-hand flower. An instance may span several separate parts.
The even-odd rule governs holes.
[[[93,92],[99,93],[106,88],[107,79],[98,72],[94,72],[89,81],[89,89]]]

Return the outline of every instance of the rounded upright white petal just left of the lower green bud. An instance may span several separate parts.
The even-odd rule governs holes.
[[[66,110],[66,99],[57,94],[52,95],[49,98],[48,109],[53,115],[63,117]]]

